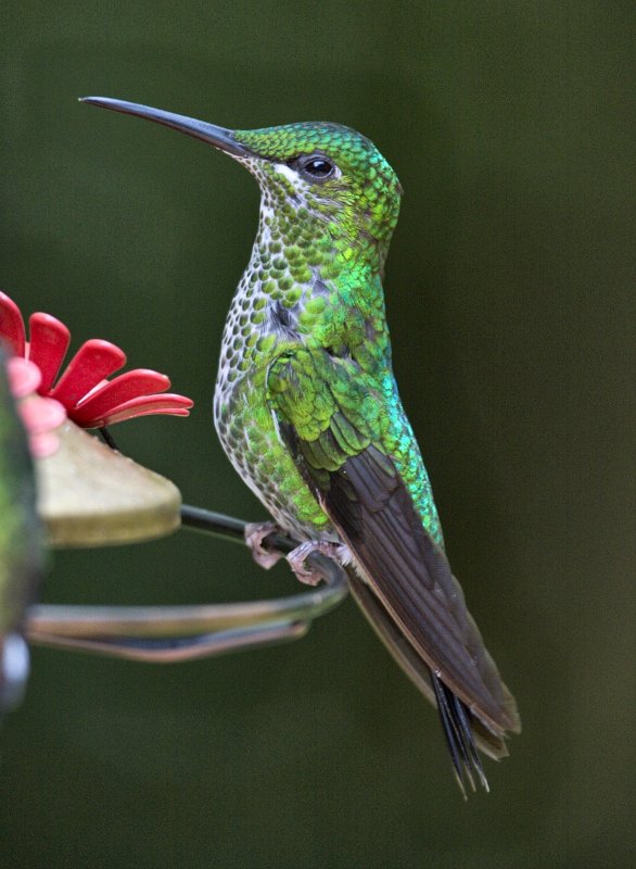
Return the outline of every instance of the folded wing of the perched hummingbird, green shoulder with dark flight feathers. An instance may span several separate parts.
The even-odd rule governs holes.
[[[505,754],[505,731],[519,730],[514,701],[384,451],[380,388],[354,361],[300,348],[271,365],[268,396],[281,438],[373,593],[354,577],[356,600],[429,698],[438,678],[478,719],[481,747]]]

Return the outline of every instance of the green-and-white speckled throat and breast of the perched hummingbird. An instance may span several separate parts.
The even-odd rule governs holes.
[[[386,358],[381,274],[394,222],[382,227],[382,250],[344,209],[326,214],[284,165],[242,162],[259,181],[260,217],[226,325],[220,379],[236,380],[298,339],[359,356],[365,368]]]

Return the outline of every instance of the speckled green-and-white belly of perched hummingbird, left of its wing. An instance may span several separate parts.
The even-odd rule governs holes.
[[[274,519],[297,540],[338,540],[327,515],[281,441],[266,399],[265,373],[233,383],[219,378],[214,423],[238,474]]]

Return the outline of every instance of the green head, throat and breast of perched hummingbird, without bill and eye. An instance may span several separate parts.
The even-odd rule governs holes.
[[[262,354],[300,336],[379,358],[389,349],[381,280],[399,211],[395,173],[368,139],[335,125],[234,135],[254,151],[238,159],[257,179],[262,202],[224,336],[220,379],[236,379],[256,356],[263,362]],[[294,165],[303,153],[336,153],[335,177],[303,178]]]

